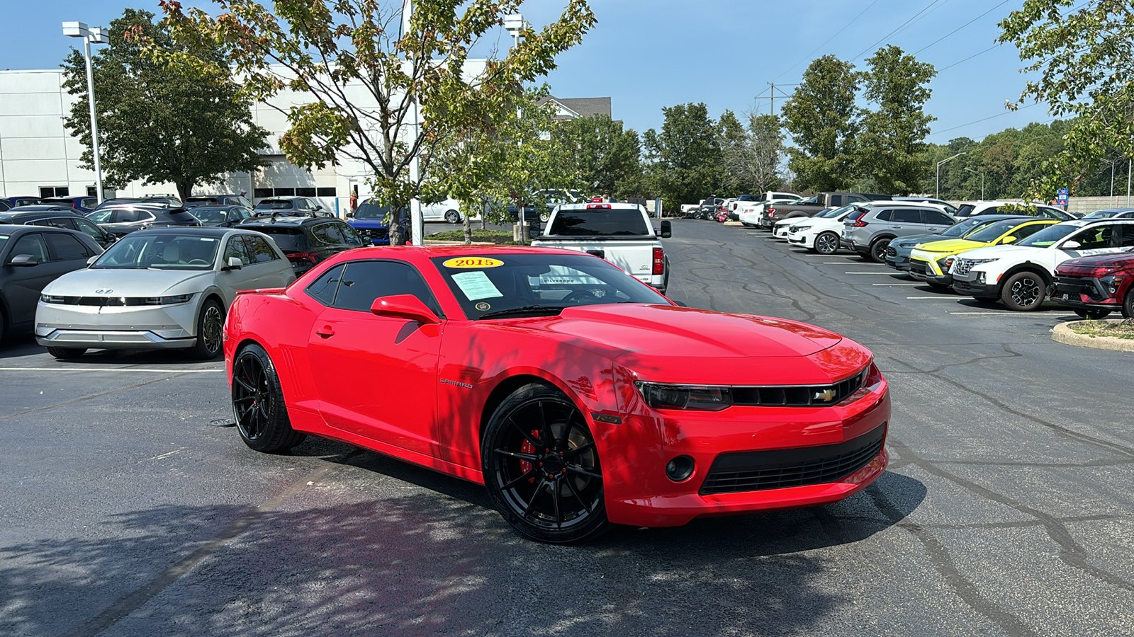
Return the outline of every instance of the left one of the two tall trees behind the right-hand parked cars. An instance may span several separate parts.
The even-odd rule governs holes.
[[[853,181],[862,119],[855,104],[858,82],[854,65],[823,56],[807,66],[784,104],[785,126],[795,142],[788,148],[788,168],[796,188],[838,190]]]

